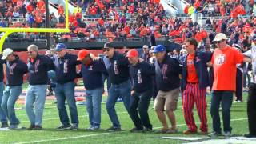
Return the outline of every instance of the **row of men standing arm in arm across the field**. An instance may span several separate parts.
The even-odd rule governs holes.
[[[80,50],[78,56],[67,53],[66,46],[59,43],[56,46],[57,55],[49,58],[38,54],[38,46],[30,45],[30,56],[27,65],[19,60],[12,50],[6,49],[2,53],[2,63],[6,64],[6,90],[3,92],[1,105],[2,126],[10,129],[17,128],[19,121],[15,116],[14,104],[18,95],[22,92],[22,76],[28,73],[29,87],[26,93],[26,114],[30,119],[30,130],[42,129],[42,113],[46,100],[47,71],[56,73],[55,96],[57,98],[58,114],[61,126],[58,130],[78,129],[78,111],[74,99],[74,79],[83,79],[86,89],[86,108],[89,114],[90,126],[87,130],[98,130],[101,125],[101,102],[104,87],[103,79],[107,76],[110,81],[106,110],[109,114],[112,126],[108,131],[120,131],[121,124],[115,110],[118,98],[122,102],[134,122],[131,132],[152,131],[152,124],[148,114],[150,98],[154,97],[154,110],[162,123],[159,133],[174,134],[178,132],[174,110],[177,109],[178,96],[182,90],[182,106],[187,130],[183,134],[195,134],[198,128],[194,122],[194,103],[201,121],[201,134],[208,134],[206,117],[206,87],[210,86],[208,67],[214,69],[214,82],[212,86],[212,98],[210,114],[213,119],[213,133],[216,137],[222,134],[219,106],[222,106],[223,135],[231,135],[230,107],[233,101],[236,81],[236,65],[242,62],[253,62],[254,80],[249,90],[248,122],[250,133],[246,137],[256,136],[255,114],[255,50],[254,46],[246,54],[240,53],[227,45],[225,34],[219,33],[214,42],[218,46],[214,53],[197,50],[198,42],[194,38],[186,39],[186,58],[182,66],[178,59],[166,54],[166,48],[162,45],[154,46],[151,50],[154,60],[149,60],[150,55],[144,54],[139,58],[137,50],[129,50],[126,55],[114,50],[110,42],[103,47],[102,58],[95,58],[88,50]],[[256,38],[252,41],[255,43]],[[249,58],[250,57],[250,58]],[[77,66],[81,65],[81,71]],[[1,68],[1,67],[0,67]],[[181,76],[182,75],[182,76]],[[1,76],[1,74],[0,74]],[[228,78],[228,79],[227,79]],[[182,79],[182,82],[181,82]],[[3,83],[0,83],[3,90]],[[181,89],[180,89],[181,88]],[[67,115],[65,101],[70,108],[70,119]],[[166,115],[170,120],[169,127]]]

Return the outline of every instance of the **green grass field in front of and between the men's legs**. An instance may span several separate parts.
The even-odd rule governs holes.
[[[106,99],[104,97],[103,99]],[[244,93],[244,101],[247,99],[247,94]],[[211,131],[211,118],[210,118],[210,95],[207,96],[207,116],[209,131]],[[16,107],[22,108],[22,105]],[[44,117],[43,117],[43,130],[4,130],[0,131],[0,143],[183,143],[182,140],[170,140],[161,138],[163,136],[168,137],[204,137],[200,134],[183,135],[182,131],[186,130],[186,123],[182,114],[182,101],[178,101],[178,110],[175,111],[178,134],[154,134],[154,133],[130,133],[130,129],[134,127],[129,115],[122,102],[117,102],[116,110],[118,112],[118,118],[122,124],[122,132],[109,133],[106,128],[111,126],[110,119],[106,113],[105,103],[102,103],[102,130],[90,132],[86,131],[89,126],[88,115],[86,113],[86,106],[78,105],[78,117],[79,117],[79,129],[78,130],[55,130],[60,125],[58,118],[58,110],[56,104],[53,101],[47,100]],[[150,122],[154,126],[154,130],[160,129],[162,126],[158,122],[158,118],[152,109],[153,102],[150,103]],[[21,121],[20,126],[29,126],[30,122],[26,116],[25,110],[17,110],[18,118]],[[198,114],[194,111],[194,118],[198,122]],[[246,102],[233,103],[231,110],[231,125],[233,127],[233,134],[242,135],[246,134],[248,130],[248,122],[246,116]]]

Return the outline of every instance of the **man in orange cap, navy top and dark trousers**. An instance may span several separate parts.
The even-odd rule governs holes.
[[[147,110],[153,92],[154,66],[147,62],[141,62],[138,59],[137,50],[129,50],[126,57],[130,61],[130,77],[134,85],[134,93],[132,93],[130,99],[130,118],[133,120],[135,127],[130,131],[151,131],[152,125]]]

